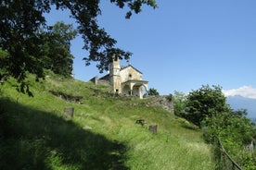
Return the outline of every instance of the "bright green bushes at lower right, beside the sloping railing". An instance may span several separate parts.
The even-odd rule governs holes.
[[[246,117],[246,110],[224,112],[207,117],[203,124],[207,125],[204,139],[214,143],[218,137],[228,154],[244,169],[253,169],[256,166],[255,152],[245,150],[246,145],[256,139],[256,127]],[[216,147],[215,152],[220,148]],[[254,160],[254,161],[252,161]]]

